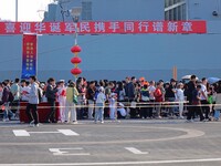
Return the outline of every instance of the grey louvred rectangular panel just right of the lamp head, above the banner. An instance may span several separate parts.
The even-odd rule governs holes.
[[[82,2],[82,20],[92,20],[92,2],[83,1]]]

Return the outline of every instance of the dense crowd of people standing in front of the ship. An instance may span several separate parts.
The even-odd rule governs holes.
[[[3,121],[19,117],[20,102],[27,102],[27,115],[31,126],[39,126],[38,105],[48,102],[51,111],[45,123],[73,123],[88,118],[104,123],[105,118],[181,118],[187,122],[219,120],[221,110],[221,81],[209,84],[206,77],[191,75],[188,83],[162,80],[146,81],[145,77],[126,77],[124,81],[64,80],[39,82],[6,80],[0,83],[0,101]],[[59,120],[55,116],[59,102]],[[188,112],[183,112],[185,107]],[[165,112],[166,111],[166,112]]]

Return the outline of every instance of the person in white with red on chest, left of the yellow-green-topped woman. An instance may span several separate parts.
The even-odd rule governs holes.
[[[59,105],[60,105],[60,121],[63,123],[65,121],[65,105],[66,105],[66,87],[65,81],[59,81],[57,87]]]

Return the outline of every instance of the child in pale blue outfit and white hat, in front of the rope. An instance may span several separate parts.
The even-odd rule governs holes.
[[[101,86],[98,91],[99,92],[96,97],[96,107],[95,107],[95,123],[97,123],[97,121],[101,121],[101,123],[104,123],[104,106],[105,106],[106,96],[104,94],[103,86]]]

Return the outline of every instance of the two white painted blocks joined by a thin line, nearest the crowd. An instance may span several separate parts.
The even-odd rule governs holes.
[[[57,132],[28,132],[24,129],[14,129],[13,134],[15,136],[30,136],[30,134],[63,134],[65,136],[78,136],[80,134],[73,132],[72,129],[57,129]]]

